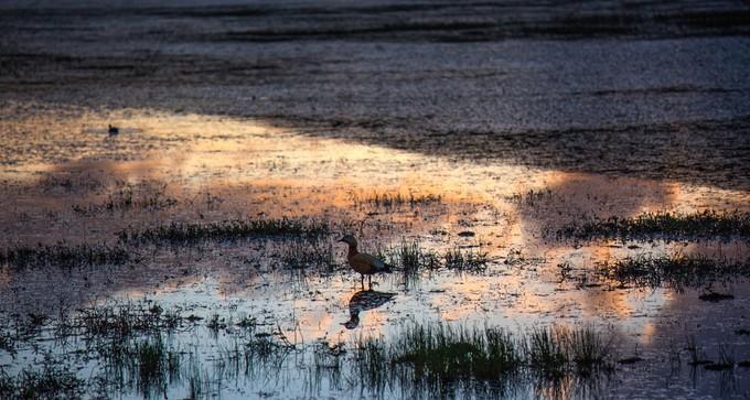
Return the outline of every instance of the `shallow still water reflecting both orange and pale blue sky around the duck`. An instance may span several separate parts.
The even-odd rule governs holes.
[[[236,320],[244,313],[269,326],[278,325],[288,337],[299,335],[300,343],[308,344],[351,342],[361,335],[384,335],[387,339],[411,321],[503,326],[518,332],[539,324],[593,323],[618,337],[619,352],[638,352],[650,360],[645,371],[622,368],[618,380],[598,389],[608,396],[625,396],[629,382],[642,379],[643,374],[658,376],[666,368],[661,361],[668,355],[665,344],[679,353],[690,335],[698,337],[708,353],[730,346],[737,359],[747,356],[744,340],[733,334],[744,326],[744,283],[720,287],[735,294],[733,301],[709,303],[697,300],[703,289],[621,288],[614,282],[598,283],[592,270],[596,263],[617,258],[675,251],[742,260],[748,257],[747,241],[576,242],[555,236],[562,224],[587,215],[747,209],[744,192],[427,156],[314,139],[249,119],[148,110],[76,112],[68,119],[61,119],[61,113],[51,111],[47,116],[36,113],[29,121],[3,122],[4,131],[25,134],[30,151],[40,149],[38,159],[29,156],[4,171],[7,245],[58,240],[114,245],[116,233],[128,227],[262,214],[312,217],[353,227],[371,251],[417,238],[436,251],[456,245],[480,246],[492,261],[482,273],[438,270],[410,282],[398,275],[376,277],[377,290],[395,293],[395,298],[364,310],[355,329],[342,325],[350,318],[350,299],[360,290],[357,277],[344,266],[344,248],[333,244],[335,262],[341,267],[333,272],[293,272],[285,271],[279,261],[289,244],[272,239],[174,249],[131,247],[129,251],[140,258],[132,267],[8,269],[1,292],[7,313],[50,314],[103,302],[148,300],[165,310],[182,307],[183,314],[190,312],[206,320],[215,313]],[[100,127],[108,121],[117,123],[121,133],[107,136]],[[44,153],[49,133],[34,138],[33,132],[45,130],[36,127],[52,128],[52,134],[66,142],[55,152],[57,156],[79,159],[49,162],[55,160]],[[150,149],[144,150],[147,147]],[[120,161],[118,153],[129,156]],[[76,205],[86,208],[104,204],[124,187],[131,187],[135,198],[156,193],[174,202],[164,202],[156,209],[74,209]],[[392,207],[358,201],[372,193],[433,194],[440,199]],[[459,235],[467,231],[473,235]],[[574,278],[561,280],[561,264],[570,268]],[[212,349],[222,343],[226,346],[222,340],[228,338],[224,336],[231,337],[224,334],[212,342],[208,329],[199,327],[172,339],[190,346],[201,338],[197,353],[211,359],[215,356]],[[12,359],[8,363],[22,366]],[[285,364],[285,370],[307,374],[294,363]],[[705,374],[690,383],[686,374],[672,377],[674,390],[669,396],[683,390],[687,397],[717,394],[719,375]],[[741,377],[744,372],[737,374]],[[278,387],[278,382],[247,379],[222,387],[222,396],[242,397],[242,390],[256,385],[261,388],[257,390],[281,397],[311,393],[301,383]],[[739,388],[730,393],[746,390],[737,385]],[[346,390],[325,386],[312,393],[347,396]],[[651,390],[643,385],[639,388]],[[175,383],[170,390],[183,389]],[[652,389],[656,392],[661,386]],[[518,396],[528,394],[524,393],[522,390]],[[139,396],[138,391],[132,394]]]

